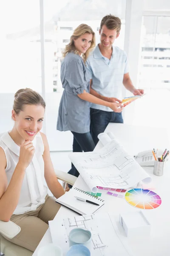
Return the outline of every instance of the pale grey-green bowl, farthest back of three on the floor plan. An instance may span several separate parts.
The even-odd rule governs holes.
[[[82,228],[74,228],[70,231],[68,235],[69,246],[74,244],[82,244],[88,249],[91,249],[91,232],[89,230],[84,230]]]

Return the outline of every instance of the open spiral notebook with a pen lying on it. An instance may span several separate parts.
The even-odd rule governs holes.
[[[75,196],[97,203],[99,206],[89,204],[88,202],[79,201],[75,198]],[[101,198],[90,195],[78,188],[70,189],[69,192],[66,192],[64,195],[58,198],[56,202],[73,210],[74,212],[79,213],[80,215],[91,215],[105,204],[105,201]]]

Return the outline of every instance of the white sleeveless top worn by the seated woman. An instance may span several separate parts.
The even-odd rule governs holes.
[[[34,157],[26,168],[19,202],[13,214],[22,214],[36,210],[40,204],[45,202],[45,196],[47,195],[47,186],[44,178],[44,160],[42,158],[44,144],[40,133],[36,135],[32,143],[35,147]],[[9,184],[19,160],[20,147],[14,143],[8,132],[0,137],[0,147],[3,148],[6,154],[7,166],[5,171]]]

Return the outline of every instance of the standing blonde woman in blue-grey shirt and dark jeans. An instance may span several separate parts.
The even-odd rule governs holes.
[[[90,133],[91,103],[122,112],[122,108],[119,108],[121,104],[107,102],[90,94],[90,78],[85,61],[94,46],[95,34],[91,27],[86,24],[79,25],[65,47],[65,58],[61,64],[64,91],[59,105],[57,130],[72,132],[73,152],[93,151],[95,148]],[[74,166],[69,173],[77,177],[79,175]]]

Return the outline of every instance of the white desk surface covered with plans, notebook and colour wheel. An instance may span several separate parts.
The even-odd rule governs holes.
[[[110,123],[105,131],[112,131],[119,142],[125,147],[129,154],[132,155],[153,147],[158,147],[160,149],[170,148],[169,134],[165,130],[162,131],[161,128]],[[96,145],[95,150],[101,147],[102,145],[99,142]],[[144,210],[145,215],[151,223],[151,234],[149,239],[143,238],[139,240],[138,237],[135,239],[127,239],[135,256],[169,255],[170,192],[168,190],[170,187],[170,161],[167,162],[165,173],[161,177],[153,175],[153,167],[144,167],[144,169],[152,177],[153,183],[156,187],[155,191],[160,195],[162,204],[156,209]],[[74,184],[74,187],[88,191],[87,185],[80,176]],[[139,210],[127,204],[127,202],[122,198],[115,198],[103,193],[102,198],[105,199],[105,205],[101,207],[98,212],[113,211],[117,223],[119,221],[119,212]],[[61,207],[55,219],[65,218],[68,216],[71,217],[74,215],[75,213],[71,210]],[[121,227],[119,227],[119,230],[122,236],[124,236]],[[33,256],[37,256],[37,251],[40,247],[51,242],[51,234],[48,229]]]

